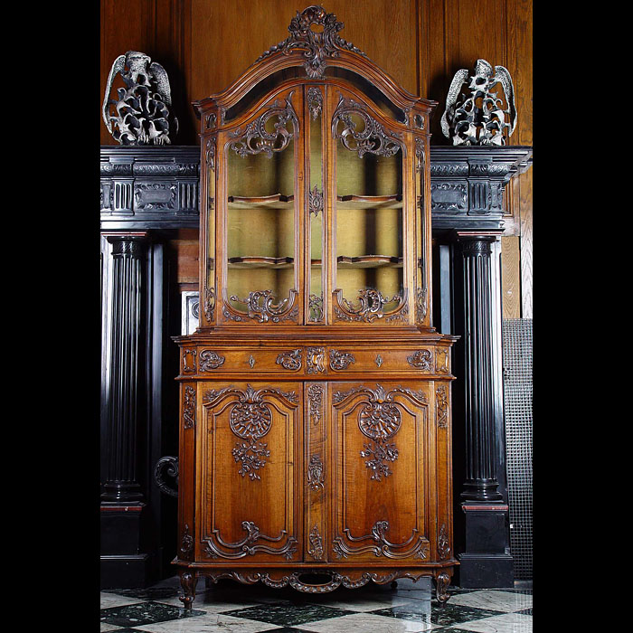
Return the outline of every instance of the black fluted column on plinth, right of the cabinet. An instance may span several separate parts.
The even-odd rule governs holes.
[[[464,552],[458,553],[459,584],[465,588],[512,587],[508,505],[505,482],[505,434],[501,382],[499,261],[496,234],[457,231],[457,311],[462,336],[464,378],[464,482],[460,494]]]

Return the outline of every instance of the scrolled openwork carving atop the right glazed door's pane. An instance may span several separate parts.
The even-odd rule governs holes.
[[[352,115],[363,119],[364,127],[361,131],[356,129]],[[343,95],[340,96],[332,117],[332,137],[340,138],[345,148],[358,154],[359,158],[367,153],[394,156],[400,149],[402,156],[406,155],[402,134],[385,130],[363,104],[356,103],[354,99],[345,99]]]

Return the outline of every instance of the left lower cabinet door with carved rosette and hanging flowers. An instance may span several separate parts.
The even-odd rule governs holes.
[[[300,561],[300,383],[201,389],[202,559]]]

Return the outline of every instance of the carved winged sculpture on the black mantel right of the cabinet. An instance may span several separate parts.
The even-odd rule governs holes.
[[[505,109],[492,91],[497,83],[504,91]],[[464,86],[468,96],[462,95]],[[493,70],[486,60],[477,60],[473,75],[466,69],[457,71],[440,124],[453,145],[505,145],[505,131],[510,137],[516,126],[515,87],[507,69],[495,66]]]

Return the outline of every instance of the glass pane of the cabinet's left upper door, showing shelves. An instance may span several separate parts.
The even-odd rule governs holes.
[[[279,99],[226,146],[227,295],[241,313],[262,299],[282,312],[293,300],[297,132],[289,98]]]

